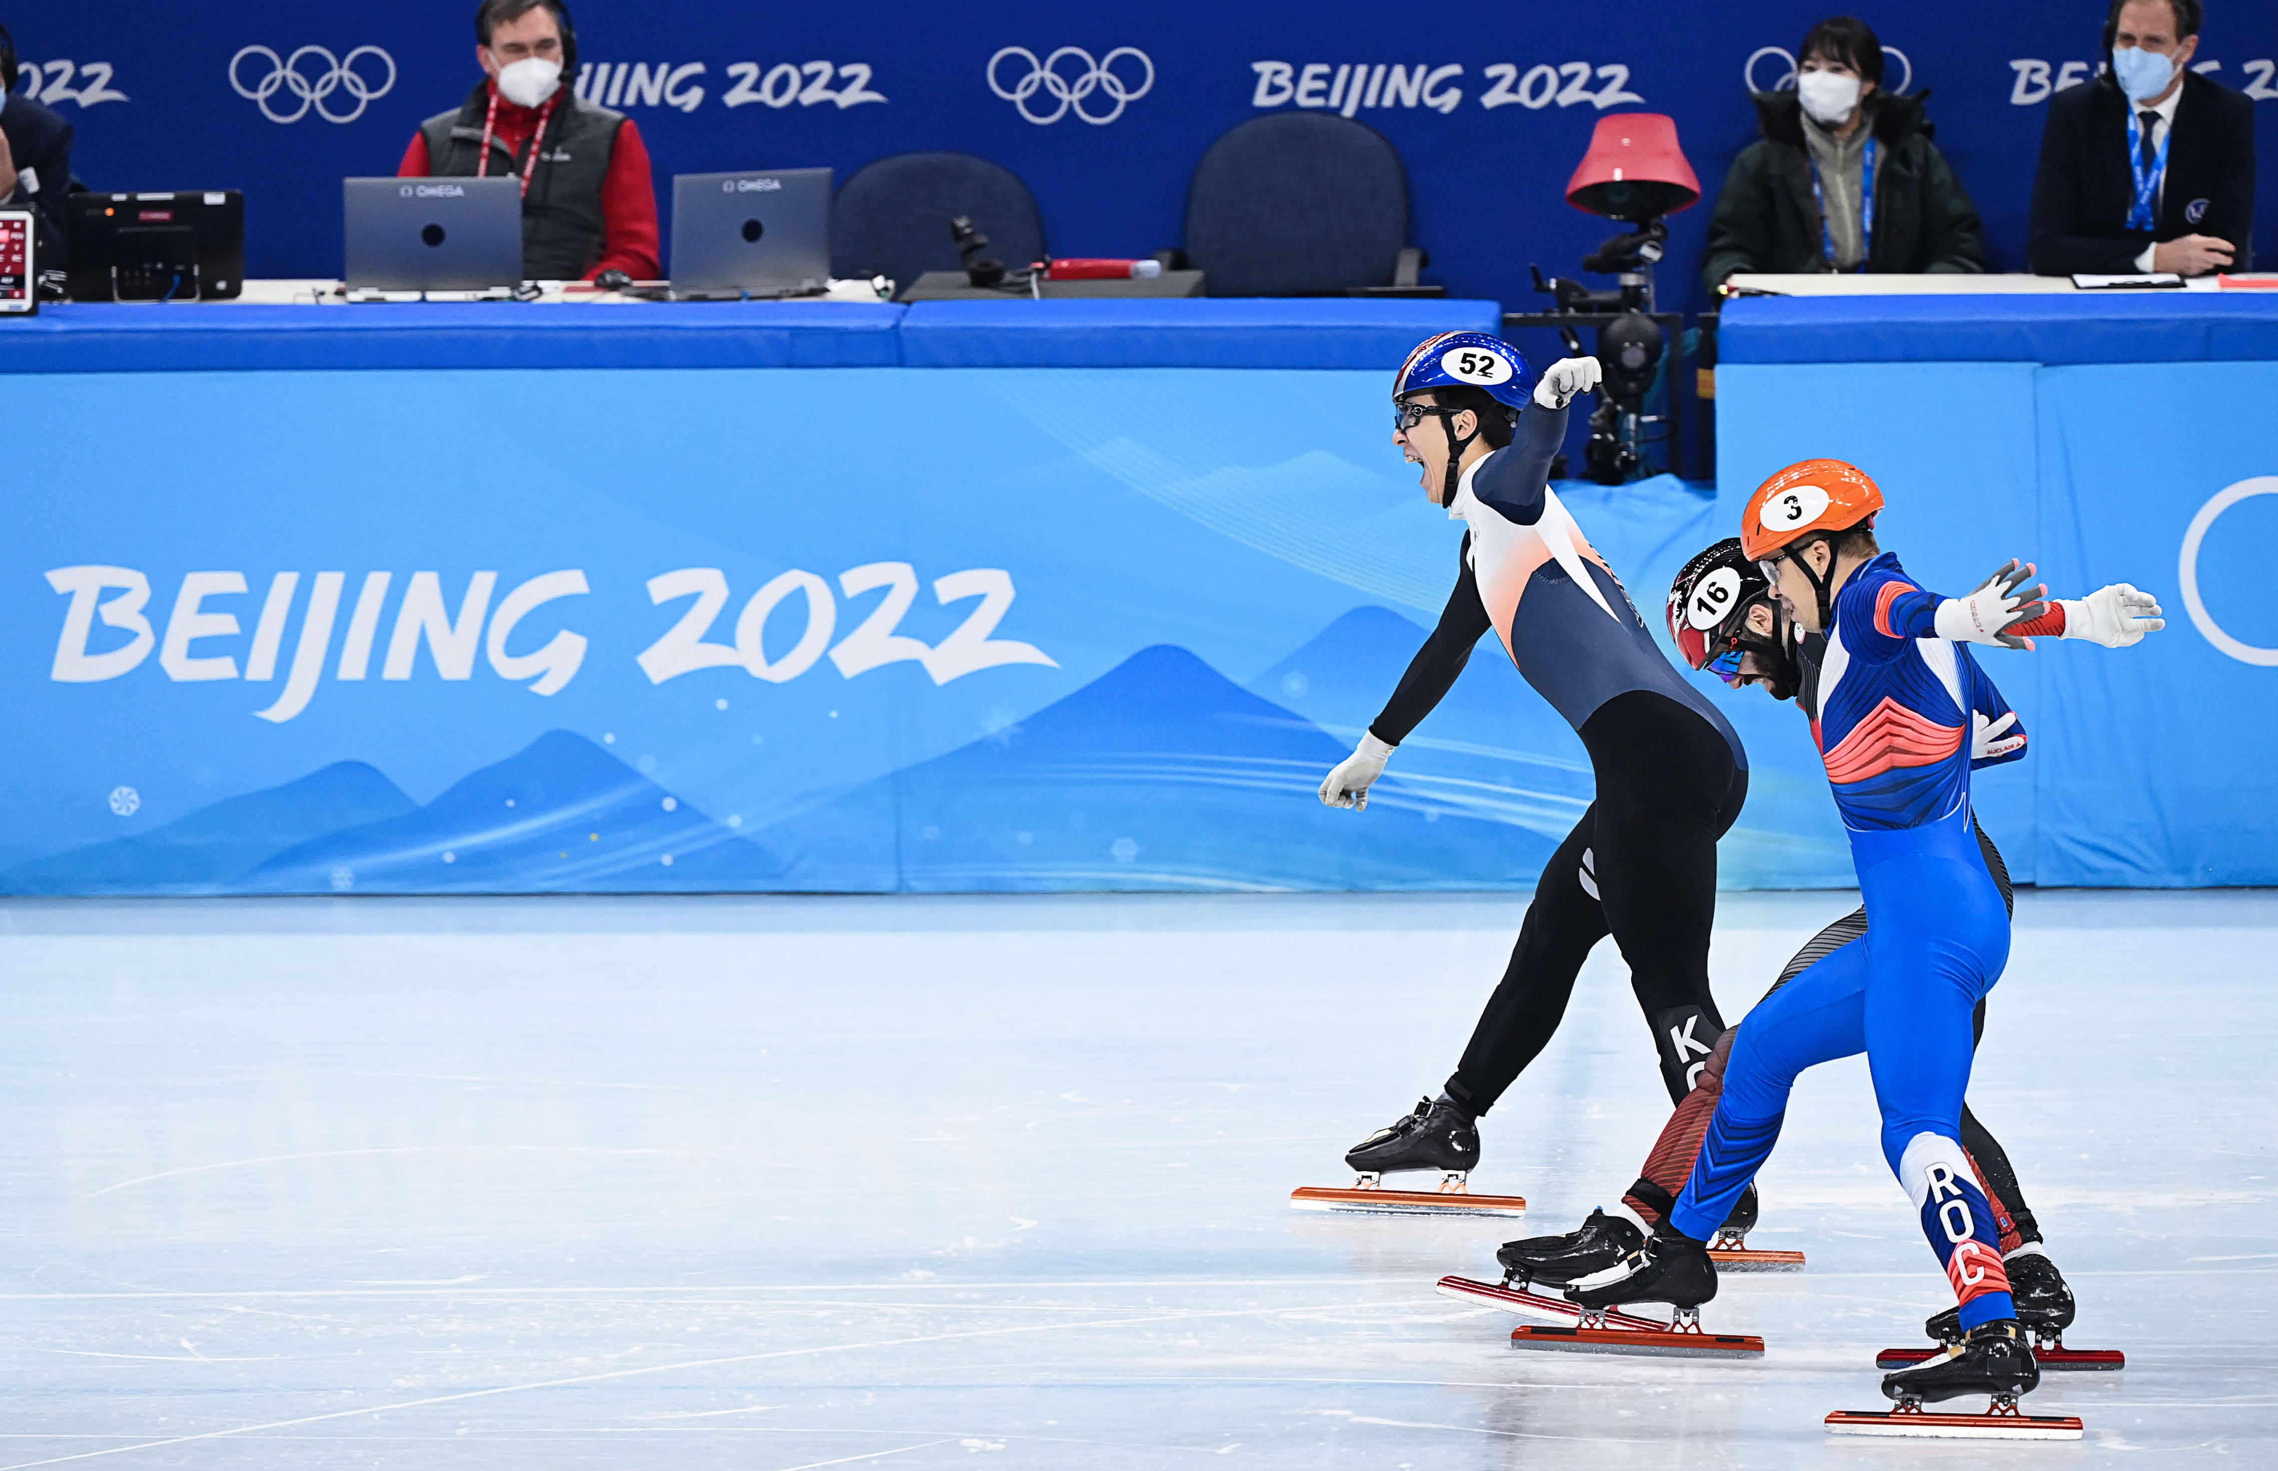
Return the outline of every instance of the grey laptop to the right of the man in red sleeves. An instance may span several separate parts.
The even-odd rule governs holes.
[[[672,175],[672,296],[818,296],[829,276],[829,169]]]

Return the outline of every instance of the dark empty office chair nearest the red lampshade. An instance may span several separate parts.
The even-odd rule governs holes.
[[[1226,130],[1187,187],[1187,264],[1212,296],[1440,296],[1408,244],[1408,171],[1367,123],[1271,112]]]

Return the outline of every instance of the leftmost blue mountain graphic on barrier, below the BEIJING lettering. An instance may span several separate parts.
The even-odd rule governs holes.
[[[339,761],[298,781],[198,808],[134,838],[18,863],[0,874],[0,893],[221,893],[282,849],[344,827],[387,822],[417,806],[362,761]]]

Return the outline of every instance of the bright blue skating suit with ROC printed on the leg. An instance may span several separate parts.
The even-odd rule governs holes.
[[[2016,1312],[2000,1227],[1959,1143],[1970,1013],[2009,959],[2009,915],[1970,815],[1970,710],[2007,706],[1966,647],[1936,638],[1939,601],[1891,553],[1834,599],[1813,738],[1868,929],[1750,1011],[1670,1221],[1713,1232],[1770,1154],[1795,1077],[1866,1052],[1884,1159],[1975,1328]]]

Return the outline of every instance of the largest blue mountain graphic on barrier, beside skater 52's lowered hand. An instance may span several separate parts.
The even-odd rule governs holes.
[[[1155,644],[1025,722],[765,829],[790,888],[1508,888],[1554,843],[1380,788],[1317,799],[1349,747]],[[854,858],[847,865],[847,858]]]

